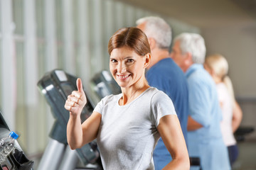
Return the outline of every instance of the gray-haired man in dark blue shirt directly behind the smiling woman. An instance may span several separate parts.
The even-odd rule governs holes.
[[[151,63],[147,67],[146,80],[150,86],[164,91],[174,102],[183,136],[186,140],[188,86],[182,70],[169,57],[171,27],[164,19],[149,16],[137,20],[137,28],[140,28],[146,34],[152,55]],[[172,159],[161,138],[154,149],[153,158],[156,170],[163,169]]]

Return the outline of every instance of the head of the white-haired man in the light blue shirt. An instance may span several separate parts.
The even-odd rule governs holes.
[[[181,33],[174,39],[171,57],[186,72],[191,64],[203,64],[206,45],[203,37],[196,33]]]

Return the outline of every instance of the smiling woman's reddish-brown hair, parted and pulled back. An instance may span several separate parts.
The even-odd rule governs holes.
[[[108,43],[109,54],[114,48],[119,47],[129,47],[141,56],[151,52],[146,35],[136,27],[121,28],[112,35]]]

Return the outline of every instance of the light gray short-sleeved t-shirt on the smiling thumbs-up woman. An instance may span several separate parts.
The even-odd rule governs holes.
[[[102,114],[97,145],[106,170],[154,169],[152,154],[164,115],[176,115],[164,92],[150,87],[134,101],[119,106],[122,94],[103,98],[95,107]]]

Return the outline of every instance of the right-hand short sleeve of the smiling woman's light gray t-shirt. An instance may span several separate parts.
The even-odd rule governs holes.
[[[174,103],[163,91],[156,92],[151,98],[151,113],[152,120],[156,127],[159,125],[159,121],[164,115],[176,115]]]

